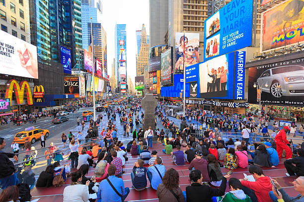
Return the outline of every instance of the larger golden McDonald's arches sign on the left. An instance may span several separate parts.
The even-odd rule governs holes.
[[[7,82],[5,98],[10,100],[10,104],[11,104],[13,90],[15,91],[16,101],[18,104],[23,103],[24,91],[26,91],[27,104],[28,105],[33,104],[32,92],[27,81],[21,81],[20,84],[18,84],[18,82],[15,79],[11,79]]]

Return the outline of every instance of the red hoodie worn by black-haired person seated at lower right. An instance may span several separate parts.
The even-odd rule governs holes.
[[[242,180],[241,184],[254,191],[258,202],[272,202],[269,197],[269,192],[272,191],[272,184],[268,176],[260,177],[255,182]]]

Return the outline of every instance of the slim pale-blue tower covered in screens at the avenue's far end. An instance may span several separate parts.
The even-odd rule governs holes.
[[[124,49],[124,56],[127,57],[127,32],[126,32],[126,24],[116,24],[115,25],[115,76],[117,78],[117,82],[119,83],[121,78],[120,75],[127,75],[127,72],[120,72],[119,67],[119,57],[121,53],[121,49]],[[120,44],[121,43],[121,44]],[[125,67],[127,62],[125,62]],[[123,65],[123,64],[122,64]]]

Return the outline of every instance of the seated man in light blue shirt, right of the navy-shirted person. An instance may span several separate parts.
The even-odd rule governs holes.
[[[157,190],[158,185],[162,183],[161,179],[164,176],[165,172],[166,168],[164,165],[161,165],[161,158],[156,157],[154,165],[151,165],[147,170],[147,176],[152,189]]]

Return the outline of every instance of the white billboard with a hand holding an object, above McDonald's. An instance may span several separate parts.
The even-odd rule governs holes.
[[[0,30],[0,73],[38,79],[37,47]]]

